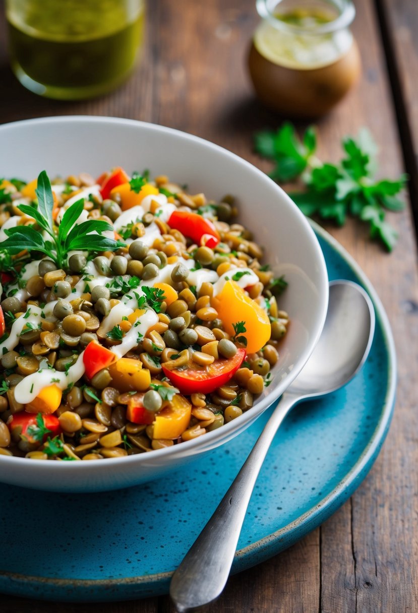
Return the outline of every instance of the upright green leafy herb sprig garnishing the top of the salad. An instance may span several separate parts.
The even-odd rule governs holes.
[[[47,173],[43,170],[37,181],[36,196],[38,205],[21,204],[18,209],[32,217],[42,232],[33,226],[16,226],[5,230],[7,238],[0,243],[0,251],[11,254],[20,251],[40,251],[51,258],[58,266],[64,268],[69,251],[115,251],[124,243],[103,235],[112,226],[99,219],[88,219],[77,224],[84,202],[77,200],[65,211],[58,228],[53,220],[54,197]],[[44,238],[43,234],[47,234]]]

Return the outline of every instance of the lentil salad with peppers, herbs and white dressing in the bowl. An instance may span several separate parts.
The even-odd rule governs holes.
[[[131,455],[251,408],[289,318],[236,213],[120,168],[0,181],[0,454]]]

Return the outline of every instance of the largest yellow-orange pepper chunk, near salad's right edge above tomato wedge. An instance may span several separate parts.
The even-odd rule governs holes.
[[[246,332],[240,334],[247,339],[248,353],[256,353],[272,334],[268,314],[235,281],[226,281],[218,295],[213,297],[211,305],[218,311],[219,319],[224,324],[225,332],[234,336],[232,324],[245,322]]]

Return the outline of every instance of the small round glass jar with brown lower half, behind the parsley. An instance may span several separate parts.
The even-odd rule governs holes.
[[[351,0],[256,0],[248,67],[257,96],[296,118],[327,113],[360,75]]]

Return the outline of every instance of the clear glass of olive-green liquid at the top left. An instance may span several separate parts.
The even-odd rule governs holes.
[[[143,12],[143,0],[6,0],[12,70],[40,96],[107,93],[135,66]]]

